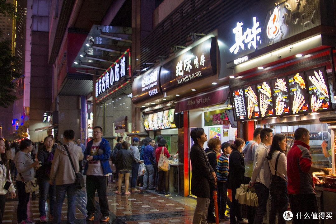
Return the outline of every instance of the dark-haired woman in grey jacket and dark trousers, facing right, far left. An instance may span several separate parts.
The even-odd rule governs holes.
[[[40,166],[39,162],[34,162],[32,156],[30,155],[32,149],[32,141],[29,139],[24,139],[21,141],[19,151],[15,154],[14,157],[14,164],[19,174],[16,176],[16,188],[19,199],[19,203],[17,205],[17,222],[19,224],[35,223],[34,221],[29,220],[27,215],[27,204],[31,191],[26,188],[29,187],[30,181],[34,180],[34,169],[37,170]]]

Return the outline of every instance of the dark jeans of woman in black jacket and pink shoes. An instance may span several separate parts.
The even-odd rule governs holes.
[[[49,194],[50,214],[53,213],[55,204],[55,185],[49,184],[49,179],[41,180],[39,182],[40,199],[39,199],[39,212],[40,217],[45,216],[45,202]]]

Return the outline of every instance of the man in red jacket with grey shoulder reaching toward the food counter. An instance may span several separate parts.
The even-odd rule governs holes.
[[[312,166],[309,152],[309,131],[298,128],[294,133],[294,144],[287,154],[288,197],[293,213],[293,224],[317,224],[312,213],[318,212],[312,173],[320,171]],[[328,170],[324,170],[328,174]],[[308,215],[310,218],[305,219]]]

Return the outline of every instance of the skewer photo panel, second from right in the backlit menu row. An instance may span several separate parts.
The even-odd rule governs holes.
[[[309,109],[306,76],[304,72],[290,75],[288,78],[289,97],[293,114],[307,113]]]

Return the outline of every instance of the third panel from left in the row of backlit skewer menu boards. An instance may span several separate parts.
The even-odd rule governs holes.
[[[257,83],[257,96],[262,118],[272,117],[275,115],[270,86],[271,84],[268,80],[262,83]]]

